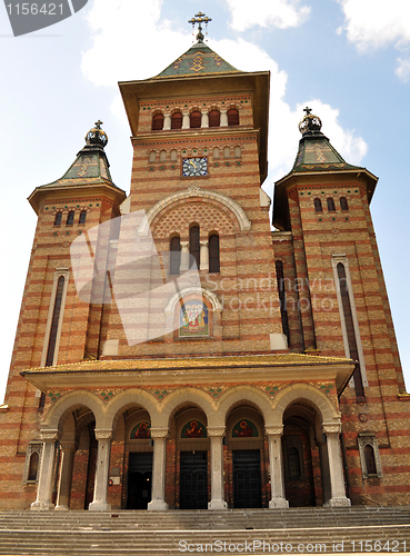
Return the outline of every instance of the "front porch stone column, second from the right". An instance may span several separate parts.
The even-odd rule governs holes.
[[[269,471],[271,500],[270,508],[289,508],[284,498],[283,469],[282,469],[282,434],[283,427],[266,427],[269,444]]]

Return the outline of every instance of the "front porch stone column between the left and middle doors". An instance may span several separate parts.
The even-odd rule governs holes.
[[[151,438],[153,439],[152,499],[148,504],[148,509],[161,512],[168,509],[166,503],[168,427],[151,428]]]

